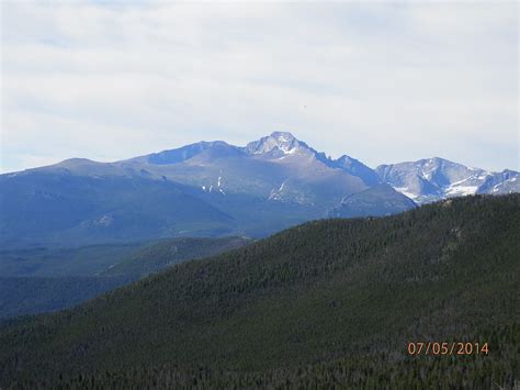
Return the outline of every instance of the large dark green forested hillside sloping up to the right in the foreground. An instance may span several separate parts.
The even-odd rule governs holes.
[[[520,194],[310,222],[4,323],[0,386],[512,387],[519,253]],[[410,341],[489,354],[408,357]]]

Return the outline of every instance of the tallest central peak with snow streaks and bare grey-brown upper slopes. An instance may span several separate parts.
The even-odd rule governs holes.
[[[189,147],[196,148],[197,145]],[[369,187],[363,178],[340,169],[325,154],[290,133],[274,132],[246,147],[224,142],[205,145],[200,153],[178,164],[150,163],[154,155],[139,157],[137,161],[147,160],[144,169],[155,172],[156,177],[165,176],[202,192],[222,197],[247,194],[268,201],[267,204],[281,201],[310,205],[319,212],[336,204],[343,196]],[[162,154],[177,155],[181,149]]]

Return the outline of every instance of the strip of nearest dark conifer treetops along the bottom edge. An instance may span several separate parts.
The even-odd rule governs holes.
[[[92,375],[61,375],[38,383],[58,389],[145,388],[362,388],[362,389],[517,389],[520,325],[496,326],[490,333],[498,356],[416,357],[373,353],[324,363],[263,371],[229,370],[207,366],[142,366],[127,370],[100,370]],[[515,374],[516,372],[516,374]],[[20,379],[13,386],[34,387]],[[517,386],[517,387],[515,387]]]

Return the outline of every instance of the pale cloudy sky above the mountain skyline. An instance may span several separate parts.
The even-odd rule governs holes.
[[[2,172],[287,131],[520,169],[517,1],[1,1]]]

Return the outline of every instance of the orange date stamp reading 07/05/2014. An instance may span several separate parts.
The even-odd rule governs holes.
[[[471,342],[409,342],[408,355],[487,355],[489,346],[487,343]]]

